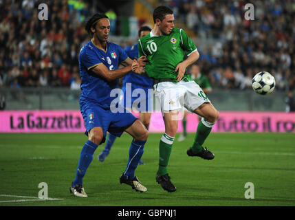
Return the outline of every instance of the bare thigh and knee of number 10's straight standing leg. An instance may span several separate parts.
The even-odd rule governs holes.
[[[175,137],[178,128],[178,111],[164,112],[165,133],[171,137]]]

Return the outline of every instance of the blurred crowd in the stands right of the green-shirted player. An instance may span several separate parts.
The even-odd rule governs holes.
[[[295,87],[295,1],[162,0],[176,19],[199,38],[214,42],[200,49],[201,62],[212,67],[210,80],[226,88],[251,87],[254,74],[266,71],[276,88]],[[245,4],[254,5],[254,20],[246,20]]]

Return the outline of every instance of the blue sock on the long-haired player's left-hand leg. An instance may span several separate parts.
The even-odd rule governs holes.
[[[76,177],[72,183],[72,187],[76,185],[83,185],[83,177],[88,166],[91,164],[91,161],[94,157],[94,151],[96,151],[97,147],[98,145],[94,144],[94,142],[91,142],[90,140],[87,140],[83,146],[76,171]]]

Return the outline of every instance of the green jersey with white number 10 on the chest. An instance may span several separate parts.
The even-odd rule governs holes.
[[[162,36],[150,32],[138,40],[138,57],[148,58],[145,69],[151,78],[171,78],[177,82],[175,68],[184,61],[184,55],[195,51],[197,47],[181,28],[173,28],[170,34]],[[191,80],[188,74],[182,79]]]

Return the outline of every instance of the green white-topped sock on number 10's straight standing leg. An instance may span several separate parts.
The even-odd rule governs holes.
[[[171,137],[164,133],[161,137],[160,144],[159,144],[159,170],[157,170],[157,175],[162,176],[168,173],[167,165],[169,162],[172,144],[175,137]]]

